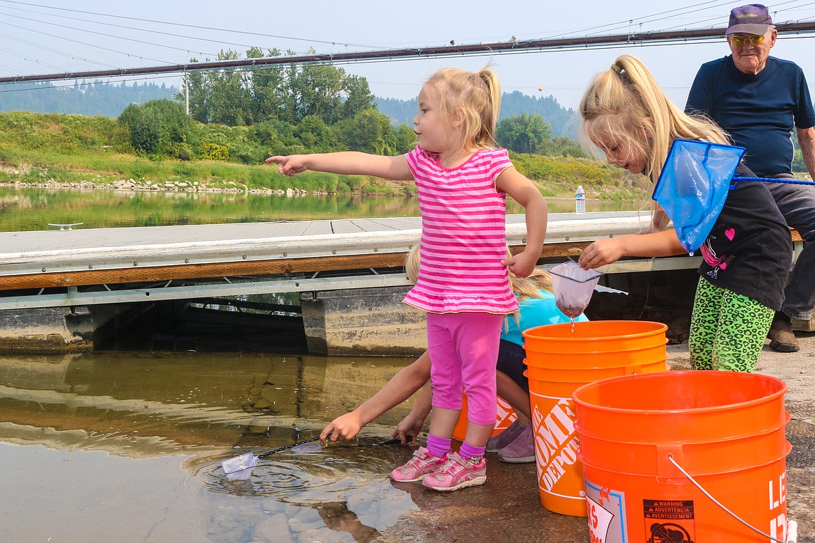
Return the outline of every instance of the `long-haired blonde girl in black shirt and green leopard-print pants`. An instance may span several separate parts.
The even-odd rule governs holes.
[[[601,72],[579,106],[581,132],[606,160],[656,182],[676,138],[727,143],[717,125],[688,116],[667,99],[639,59],[622,55]],[[736,173],[751,176],[739,165]],[[727,182],[727,181],[725,181]],[[623,256],[685,252],[676,231],[620,236],[592,243],[580,255],[584,269]],[[688,340],[698,370],[752,371],[773,314],[781,308],[790,271],[791,236],[763,183],[741,182],[699,252],[698,285]]]

